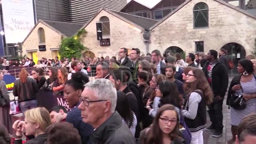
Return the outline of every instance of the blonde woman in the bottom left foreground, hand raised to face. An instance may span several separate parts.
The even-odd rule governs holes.
[[[47,141],[45,129],[52,124],[51,117],[46,108],[32,108],[25,112],[25,121],[17,120],[12,128],[16,130],[14,144],[22,144],[22,132],[28,135],[34,135],[25,144],[44,144]]]

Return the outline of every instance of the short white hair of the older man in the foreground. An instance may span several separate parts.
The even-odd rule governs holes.
[[[99,100],[109,100],[111,102],[111,113],[115,112],[117,94],[116,88],[110,80],[99,78],[88,82],[84,86],[92,90]]]

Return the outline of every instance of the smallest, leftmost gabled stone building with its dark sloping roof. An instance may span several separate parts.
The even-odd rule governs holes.
[[[76,23],[39,20],[22,42],[22,54],[32,58],[34,62],[42,57],[54,59],[58,56],[61,38],[74,35],[82,26]]]

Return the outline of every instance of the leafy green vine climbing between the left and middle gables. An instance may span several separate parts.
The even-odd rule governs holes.
[[[81,38],[84,37],[86,33],[85,29],[80,29],[74,36],[63,37],[59,49],[60,59],[63,59],[63,57],[68,59],[72,57],[80,58],[81,52],[88,50],[80,43]]]

